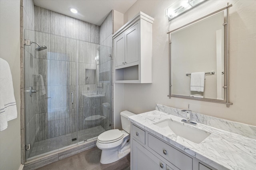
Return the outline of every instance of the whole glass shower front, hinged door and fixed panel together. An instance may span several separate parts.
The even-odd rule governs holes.
[[[24,36],[26,160],[112,129],[111,47],[28,29]]]

